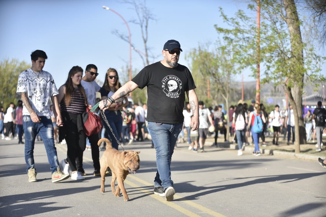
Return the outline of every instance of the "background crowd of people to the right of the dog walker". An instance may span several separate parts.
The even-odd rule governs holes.
[[[180,135],[181,138],[187,134],[187,142],[189,144],[189,150],[198,152],[197,148],[194,147],[194,142],[191,141],[191,132],[188,132],[189,121],[191,111],[187,108],[188,102],[185,104],[184,109],[184,132]],[[321,151],[323,146],[322,134],[326,134],[325,121],[320,120],[318,116],[322,116],[325,109],[322,108],[321,102],[318,102],[317,108],[312,113],[307,110],[304,115],[304,124],[306,129],[306,141],[316,143],[316,151]],[[267,146],[265,142],[266,134],[273,134],[273,145],[279,145],[280,136],[283,135],[283,140],[287,139],[287,145],[294,144],[295,132],[294,132],[294,114],[292,105],[289,104],[289,108],[286,110],[280,110],[279,105],[275,105],[274,110],[267,112],[265,106],[260,103],[256,103],[254,100],[251,101],[251,105],[248,107],[247,103],[239,101],[237,105],[231,105],[228,111],[223,111],[222,105],[214,107],[204,107],[203,102],[199,101],[199,112],[200,112],[200,129],[198,134],[198,144],[200,145],[200,152],[203,152],[203,144],[207,135],[214,134],[213,145],[218,146],[217,138],[218,135],[224,136],[224,142],[227,140],[227,128],[229,128],[231,142],[237,142],[239,146],[238,155],[242,155],[242,149],[245,145],[254,144],[255,150],[254,155],[259,156],[259,140],[261,140],[261,146]],[[229,116],[229,121],[228,121]],[[262,119],[262,131],[254,132],[252,127],[255,123],[255,117],[259,116]],[[325,115],[326,117],[326,115]],[[322,119],[322,117],[321,117]],[[209,130],[210,127],[214,126]],[[251,142],[250,142],[251,141]],[[179,141],[181,142],[181,141]]]

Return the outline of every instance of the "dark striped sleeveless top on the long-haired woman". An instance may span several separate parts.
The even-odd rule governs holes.
[[[85,97],[79,91],[78,88],[74,88],[75,91],[71,93],[70,104],[66,105],[66,96],[60,102],[61,111],[68,113],[81,114],[85,111]]]

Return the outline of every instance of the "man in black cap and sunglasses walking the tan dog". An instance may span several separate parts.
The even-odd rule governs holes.
[[[185,93],[194,114],[190,126],[199,127],[198,98],[195,83],[189,69],[178,63],[180,43],[167,41],[162,50],[163,60],[143,68],[138,75],[119,88],[107,100],[100,102],[100,109],[107,109],[115,100],[126,96],[136,88],[147,87],[147,121],[156,149],[157,172],[154,194],[173,200],[175,190],[171,180],[171,158],[178,135],[182,129]]]

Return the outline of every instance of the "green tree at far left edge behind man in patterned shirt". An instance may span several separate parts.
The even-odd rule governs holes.
[[[9,106],[10,102],[17,104],[18,99],[20,99],[20,95],[16,94],[18,76],[22,71],[30,67],[31,64],[25,61],[20,62],[17,59],[10,61],[5,59],[0,62],[0,99],[4,109]]]

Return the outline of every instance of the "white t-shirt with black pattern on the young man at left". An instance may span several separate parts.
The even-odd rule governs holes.
[[[58,95],[52,75],[46,71],[23,71],[18,77],[17,93],[26,93],[29,104],[38,116],[51,116],[49,99]],[[23,105],[22,115],[30,115]]]

